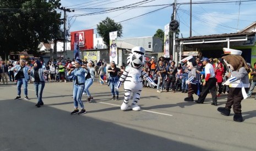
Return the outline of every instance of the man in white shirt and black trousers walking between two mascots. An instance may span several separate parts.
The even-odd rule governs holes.
[[[211,92],[211,98],[213,99],[214,106],[217,106],[217,96],[216,96],[216,78],[214,67],[209,63],[209,59],[207,57],[203,57],[201,60],[203,65],[205,66],[205,80],[203,82],[203,90],[199,95],[197,103],[204,103],[205,97],[207,96],[209,90]]]

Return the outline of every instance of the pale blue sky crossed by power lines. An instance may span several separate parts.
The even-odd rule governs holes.
[[[174,2],[175,0],[61,0],[62,7],[75,10],[67,12],[69,32],[95,29],[96,33],[96,25],[109,17],[123,26],[122,39],[154,36],[158,29],[164,31],[165,25],[171,21],[171,4]],[[179,38],[189,37],[189,3],[189,0],[177,0]],[[236,33],[256,21],[256,0],[192,0],[192,3],[192,36]],[[124,6],[126,8],[120,8]],[[105,11],[110,9],[111,12]],[[62,11],[62,17],[63,14]]]

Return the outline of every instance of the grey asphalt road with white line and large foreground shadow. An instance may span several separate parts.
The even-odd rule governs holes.
[[[141,111],[121,111],[111,100],[107,85],[94,83],[89,89],[88,113],[73,111],[72,83],[46,83],[45,106],[35,107],[34,86],[30,100],[14,100],[14,84],[0,85],[0,151],[6,150],[256,150],[256,100],[242,101],[243,123],[233,121],[211,106],[184,102],[181,92],[157,93],[143,88]],[[24,98],[24,91],[21,92]],[[224,107],[226,95],[218,97]],[[197,96],[194,96],[197,99]],[[131,102],[131,101],[130,101]]]

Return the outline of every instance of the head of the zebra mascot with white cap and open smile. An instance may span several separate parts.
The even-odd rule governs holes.
[[[127,57],[127,64],[133,68],[143,67],[145,63],[145,49],[142,47],[134,47],[132,53]]]

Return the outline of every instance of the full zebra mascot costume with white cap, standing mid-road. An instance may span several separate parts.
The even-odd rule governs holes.
[[[145,64],[145,49],[142,47],[134,47],[132,49],[132,54],[129,54],[127,57],[128,66],[124,70],[123,74],[119,78],[116,89],[118,89],[122,82],[124,82],[124,100],[121,106],[122,111],[126,111],[128,108],[128,103],[130,96],[133,93],[133,102],[130,105],[130,108],[133,111],[140,111],[138,102],[140,99],[140,93],[143,88],[142,84],[142,75],[148,80],[152,85],[156,85],[152,79],[142,70],[143,65]]]

